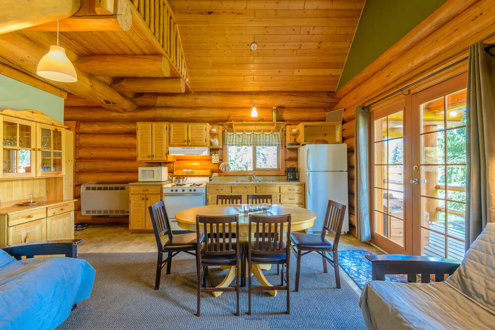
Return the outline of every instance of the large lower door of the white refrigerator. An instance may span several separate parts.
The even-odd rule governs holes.
[[[349,231],[347,172],[307,172],[307,208],[316,213],[316,220],[310,232],[321,233],[328,200],[347,206],[342,231]]]

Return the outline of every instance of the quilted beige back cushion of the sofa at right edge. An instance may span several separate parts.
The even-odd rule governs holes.
[[[487,224],[446,282],[495,314],[495,223]]]

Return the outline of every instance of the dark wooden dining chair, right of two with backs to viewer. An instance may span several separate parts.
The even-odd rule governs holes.
[[[252,227],[256,225],[256,232],[260,235],[251,235]],[[261,226],[261,230],[260,227]],[[284,242],[284,227],[287,235]],[[273,235],[272,235],[273,234]],[[249,216],[249,241],[247,243],[247,274],[251,274],[252,265],[277,264],[282,265],[280,273],[280,285],[251,286],[251,276],[248,276],[248,312],[251,314],[252,290],[285,290],[287,291],[287,314],[291,313],[289,263],[291,242],[291,215],[250,215]],[[284,265],[287,266],[284,279]],[[285,285],[284,285],[285,282]]]

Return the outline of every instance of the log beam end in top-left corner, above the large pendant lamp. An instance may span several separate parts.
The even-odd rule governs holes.
[[[81,0],[1,0],[0,34],[63,20],[80,6]]]

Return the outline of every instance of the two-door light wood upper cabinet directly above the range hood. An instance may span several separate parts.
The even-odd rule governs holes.
[[[208,124],[170,124],[170,146],[207,146]]]

